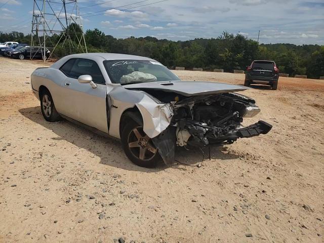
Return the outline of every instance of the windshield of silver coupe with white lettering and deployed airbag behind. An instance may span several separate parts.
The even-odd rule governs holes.
[[[156,61],[109,60],[103,63],[113,84],[180,80],[167,67]]]

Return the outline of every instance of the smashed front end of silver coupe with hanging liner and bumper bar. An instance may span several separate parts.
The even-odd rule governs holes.
[[[241,125],[243,117],[253,117],[260,112],[255,101],[243,95],[176,95],[174,100],[170,102],[174,113],[170,126],[152,139],[167,165],[174,163],[176,146],[187,148],[232,144],[238,138],[267,134],[272,128],[262,120],[249,127]]]

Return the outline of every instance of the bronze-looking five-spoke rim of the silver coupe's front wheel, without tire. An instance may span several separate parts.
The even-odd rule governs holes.
[[[134,128],[128,135],[128,146],[131,153],[141,160],[151,160],[157,154],[151,139],[144,134],[142,127]]]

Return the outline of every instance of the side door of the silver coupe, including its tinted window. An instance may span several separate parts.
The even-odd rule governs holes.
[[[106,84],[98,64],[90,59],[73,58],[60,70],[66,75],[62,83],[62,95],[66,101],[63,114],[108,133],[106,110]],[[80,84],[80,75],[91,75],[97,88],[90,84]]]

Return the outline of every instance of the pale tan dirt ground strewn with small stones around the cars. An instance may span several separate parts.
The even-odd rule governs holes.
[[[241,92],[262,110],[244,124],[269,134],[213,147],[200,168],[199,151],[178,149],[187,165],[143,169],[118,141],[43,118],[30,91],[42,65],[0,57],[0,242],[323,242],[324,81]]]

